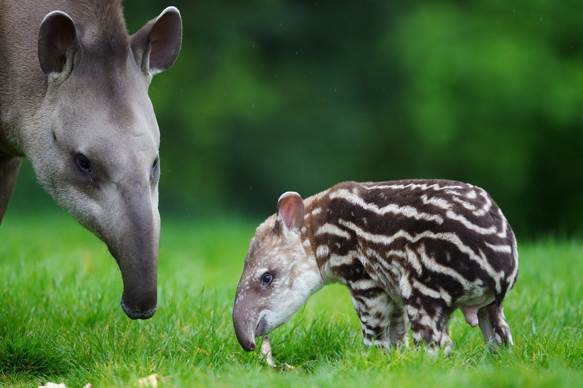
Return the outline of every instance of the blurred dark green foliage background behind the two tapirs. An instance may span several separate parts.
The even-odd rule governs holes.
[[[163,222],[418,177],[485,188],[519,237],[581,236],[580,0],[126,0],[130,33],[169,5],[182,49],[150,86]],[[9,212],[55,206],[26,163]]]

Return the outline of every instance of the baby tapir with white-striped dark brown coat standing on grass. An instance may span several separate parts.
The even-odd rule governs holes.
[[[512,344],[502,301],[518,276],[514,233],[482,188],[450,180],[345,182],[301,200],[283,194],[251,239],[233,323],[241,346],[285,323],[311,294],[342,282],[364,343],[451,350],[461,308],[491,346]]]

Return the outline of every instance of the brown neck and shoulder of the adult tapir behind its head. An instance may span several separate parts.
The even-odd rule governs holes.
[[[75,21],[79,56],[123,67],[128,58],[129,35],[120,0],[1,0],[0,1],[0,151],[26,156],[37,141],[47,76],[38,63],[38,31],[44,17],[61,10]],[[17,26],[17,28],[15,27]],[[115,72],[114,72],[115,73]]]

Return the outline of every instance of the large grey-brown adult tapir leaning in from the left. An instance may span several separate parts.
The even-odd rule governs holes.
[[[174,7],[130,36],[119,0],[0,0],[0,222],[29,158],[107,244],[132,319],[157,307],[160,133],[147,90],[181,41]]]

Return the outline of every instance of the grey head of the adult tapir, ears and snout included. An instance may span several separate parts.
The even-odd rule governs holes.
[[[182,24],[170,7],[130,37],[119,14],[78,24],[60,11],[44,17],[47,92],[27,155],[55,201],[107,244],[125,314],[147,319],[157,307],[160,236],[160,132],[147,89],[177,58]]]

